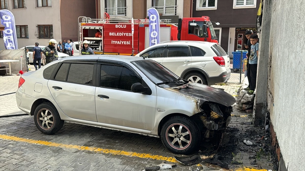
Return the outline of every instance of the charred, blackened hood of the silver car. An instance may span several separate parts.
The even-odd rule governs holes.
[[[178,87],[171,87],[166,89],[176,92],[178,91],[182,94],[193,96],[203,101],[219,103],[224,106],[232,106],[236,101],[233,96],[221,89],[194,82],[189,82]]]

